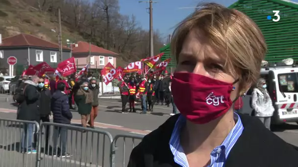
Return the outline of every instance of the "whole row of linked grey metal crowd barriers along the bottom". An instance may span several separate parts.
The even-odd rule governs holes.
[[[22,151],[22,136],[28,150]],[[125,167],[143,137],[113,139],[107,131],[80,125],[45,122],[39,127],[37,122],[0,119],[0,167]]]

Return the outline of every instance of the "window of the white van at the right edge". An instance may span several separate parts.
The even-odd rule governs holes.
[[[278,74],[278,84],[280,92],[290,93],[298,92],[298,73]]]

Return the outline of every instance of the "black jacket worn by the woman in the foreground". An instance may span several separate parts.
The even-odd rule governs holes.
[[[280,139],[257,118],[239,115],[244,130],[231,149],[224,167],[298,167],[296,146]],[[174,162],[169,146],[179,116],[170,117],[146,135],[132,150],[128,167],[180,167]]]

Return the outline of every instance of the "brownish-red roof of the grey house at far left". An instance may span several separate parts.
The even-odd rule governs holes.
[[[0,47],[18,47],[18,46],[33,46],[43,48],[59,49],[59,44],[49,42],[30,34],[18,34],[15,36],[2,39]],[[70,50],[68,47],[63,47],[64,50]]]

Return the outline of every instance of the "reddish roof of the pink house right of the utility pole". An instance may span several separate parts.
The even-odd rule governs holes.
[[[77,47],[74,47],[73,45],[73,54],[74,56],[75,55],[78,55],[80,53],[89,53],[89,43],[88,42],[82,42],[82,41],[79,41],[79,42],[76,42],[77,43]],[[102,56],[105,56],[105,55],[119,55],[118,53],[115,53],[115,52],[112,52],[112,51],[109,51],[109,50],[106,50],[102,47],[99,47],[99,46],[96,46],[96,45],[93,45],[91,44],[91,53],[97,53],[97,54],[100,54]]]

